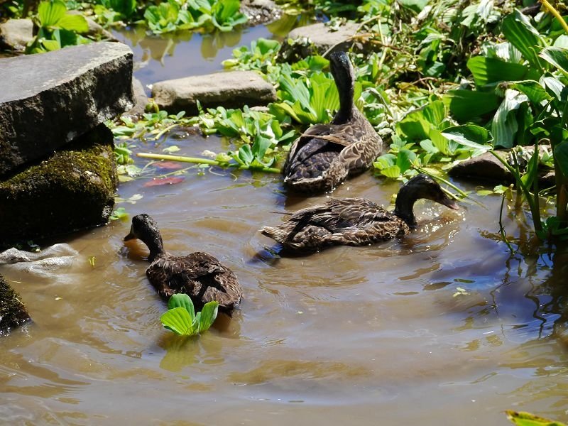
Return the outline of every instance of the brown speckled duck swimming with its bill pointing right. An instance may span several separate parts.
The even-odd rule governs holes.
[[[434,179],[420,174],[400,188],[393,212],[365,198],[330,198],[298,210],[279,226],[264,226],[261,233],[288,251],[320,251],[339,244],[364,246],[409,234],[417,225],[414,203],[421,198],[459,209]]]

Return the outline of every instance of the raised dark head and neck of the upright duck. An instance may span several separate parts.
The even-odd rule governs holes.
[[[329,70],[332,72],[339,93],[339,111],[334,117],[334,123],[342,124],[349,121],[353,115],[355,72],[345,52],[334,52],[329,55]]]

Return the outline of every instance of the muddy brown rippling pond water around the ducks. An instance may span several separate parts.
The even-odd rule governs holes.
[[[226,148],[179,131],[138,150],[168,144],[182,155]],[[0,268],[34,320],[1,339],[2,422],[507,425],[506,409],[568,420],[567,259],[511,256],[501,197],[473,195],[479,204],[459,211],[418,202],[405,239],[276,258],[258,229],[325,196],[287,197],[280,176],[248,171],[150,179],[121,184],[120,197],[143,197],[120,205],[151,214],[171,253],[208,251],[232,268],[241,310],[197,339],[175,337],[159,322],[146,247],[122,241],[129,221],[58,239],[79,255],[55,275]],[[388,204],[398,187],[365,173],[334,196]],[[508,234],[528,245],[507,212]]]

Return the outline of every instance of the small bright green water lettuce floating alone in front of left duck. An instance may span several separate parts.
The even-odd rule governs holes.
[[[168,311],[161,317],[163,326],[181,336],[195,336],[207,331],[217,318],[219,302],[208,302],[195,313],[193,302],[186,294],[175,294],[168,300]]]

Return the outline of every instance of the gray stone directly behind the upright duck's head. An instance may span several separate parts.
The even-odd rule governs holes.
[[[355,35],[358,28],[359,24],[352,22],[344,23],[337,31],[333,31],[324,23],[296,28],[290,31],[288,41],[283,43],[280,49],[280,60],[295,60],[315,53],[322,55],[329,49],[331,49],[329,53],[336,50],[349,50],[354,43],[351,37]]]

